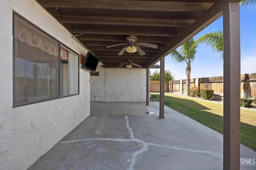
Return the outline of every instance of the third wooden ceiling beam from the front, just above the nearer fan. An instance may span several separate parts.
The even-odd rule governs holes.
[[[172,29],[129,29],[118,27],[113,28],[98,28],[98,27],[73,27],[71,33],[73,34],[102,34],[102,35],[148,35],[148,36],[167,36],[177,37],[178,33]]]

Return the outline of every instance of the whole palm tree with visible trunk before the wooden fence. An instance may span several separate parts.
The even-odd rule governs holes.
[[[177,63],[187,63],[185,73],[187,76],[186,79],[186,88],[187,88],[187,95],[188,89],[190,87],[190,74],[191,74],[191,63],[195,58],[196,55],[196,47],[197,43],[194,41],[193,37],[188,39],[185,43],[182,44],[180,52],[175,49],[169,55],[176,61]]]

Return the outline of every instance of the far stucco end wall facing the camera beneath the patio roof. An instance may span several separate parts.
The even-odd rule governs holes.
[[[99,76],[90,76],[91,102],[146,102],[145,68],[98,66],[96,71]]]

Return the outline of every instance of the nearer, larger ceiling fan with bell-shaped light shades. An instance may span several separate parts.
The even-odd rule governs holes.
[[[139,46],[141,46],[141,47],[150,47],[150,48],[153,48],[153,49],[157,49],[157,45],[155,45],[155,44],[137,43],[137,37],[131,36],[131,35],[129,37],[126,37],[126,42],[127,43],[120,43],[120,44],[111,45],[107,48],[114,47],[114,46],[117,46],[117,45],[126,45],[126,47],[124,47],[118,53],[118,55],[123,55],[124,51],[127,51],[128,53],[135,53],[136,51],[138,51],[138,53],[140,55],[145,55],[146,53]]]

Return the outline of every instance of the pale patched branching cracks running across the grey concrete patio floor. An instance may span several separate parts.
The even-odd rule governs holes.
[[[133,170],[134,164],[136,162],[136,156],[138,154],[146,152],[147,149],[148,149],[148,146],[156,146],[156,147],[170,148],[170,149],[176,149],[176,150],[185,150],[185,151],[188,151],[188,152],[194,152],[194,153],[199,153],[199,154],[208,154],[208,155],[215,156],[215,157],[218,157],[218,158],[223,158],[222,154],[211,152],[211,151],[208,151],[208,150],[195,150],[195,149],[186,149],[186,148],[168,146],[168,145],[158,145],[158,144],[154,144],[154,143],[147,143],[147,142],[142,141],[140,139],[136,139],[136,138],[134,138],[132,128],[130,128],[128,116],[125,116],[124,118],[126,119],[126,127],[130,132],[131,139],[89,138],[89,139],[77,139],[77,140],[62,141],[62,142],[60,141],[59,143],[74,143],[74,142],[81,142],[81,141],[115,141],[115,142],[138,142],[138,143],[142,143],[143,144],[142,149],[137,150],[132,154],[132,160],[131,160],[131,164],[130,164],[130,167],[128,168],[128,170]]]

